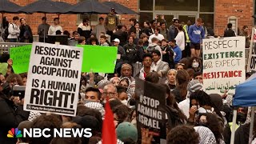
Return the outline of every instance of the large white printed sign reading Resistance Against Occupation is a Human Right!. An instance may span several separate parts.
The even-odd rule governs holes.
[[[83,49],[33,42],[24,110],[75,116]]]

